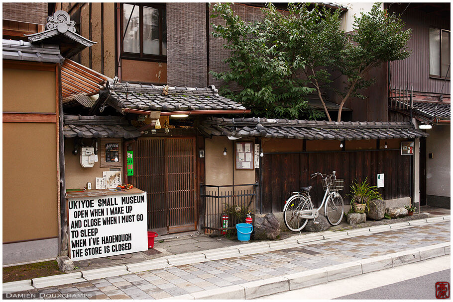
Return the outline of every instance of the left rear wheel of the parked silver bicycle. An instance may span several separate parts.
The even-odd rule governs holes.
[[[310,210],[310,202],[303,195],[294,195],[288,199],[286,208],[283,211],[285,226],[292,231],[299,231],[305,227],[308,219],[300,218],[297,213],[301,210]]]

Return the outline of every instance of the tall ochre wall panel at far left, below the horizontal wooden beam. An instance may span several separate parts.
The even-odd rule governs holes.
[[[56,124],[3,123],[3,242],[58,236],[56,134]]]

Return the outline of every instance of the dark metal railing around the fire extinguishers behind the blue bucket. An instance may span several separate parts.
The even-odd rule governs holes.
[[[200,197],[204,208],[204,226],[208,233],[218,232],[220,236],[223,229],[234,229],[238,223],[243,223],[238,217],[250,211],[255,211],[255,200],[258,183],[244,185],[200,185]],[[231,212],[234,211],[235,213]],[[228,227],[222,227],[222,214],[229,213]],[[239,221],[241,220],[241,221]]]

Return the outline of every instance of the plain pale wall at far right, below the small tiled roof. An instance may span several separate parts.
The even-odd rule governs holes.
[[[426,194],[450,197],[450,125],[433,126],[427,133]]]

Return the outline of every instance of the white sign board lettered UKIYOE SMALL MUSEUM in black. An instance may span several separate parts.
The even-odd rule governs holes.
[[[73,261],[148,249],[146,192],[68,199]]]

